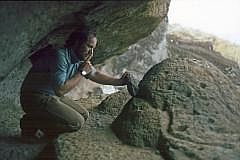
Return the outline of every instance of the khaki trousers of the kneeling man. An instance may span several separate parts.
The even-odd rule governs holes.
[[[20,97],[26,113],[21,129],[43,129],[49,134],[79,130],[89,117],[88,111],[67,97],[24,93]]]

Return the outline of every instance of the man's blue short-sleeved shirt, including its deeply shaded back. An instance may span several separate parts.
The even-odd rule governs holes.
[[[54,88],[71,79],[83,61],[72,49],[61,48],[51,53],[41,53],[32,63],[21,91],[56,95]]]

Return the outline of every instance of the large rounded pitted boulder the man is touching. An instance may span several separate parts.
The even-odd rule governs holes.
[[[125,143],[164,158],[239,158],[240,92],[204,59],[172,58],[152,67],[112,123]]]

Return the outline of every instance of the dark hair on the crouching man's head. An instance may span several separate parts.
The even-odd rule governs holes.
[[[73,46],[76,41],[83,43],[87,41],[89,36],[96,37],[96,30],[90,26],[83,26],[75,29],[66,41],[66,47]]]

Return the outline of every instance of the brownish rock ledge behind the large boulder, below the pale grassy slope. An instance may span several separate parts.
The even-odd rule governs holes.
[[[237,61],[227,59],[222,56],[223,53],[213,50],[210,41],[186,40],[174,34],[168,34],[167,41],[170,57],[191,57],[196,61],[209,61],[228,76],[234,84],[240,85],[240,66]]]

